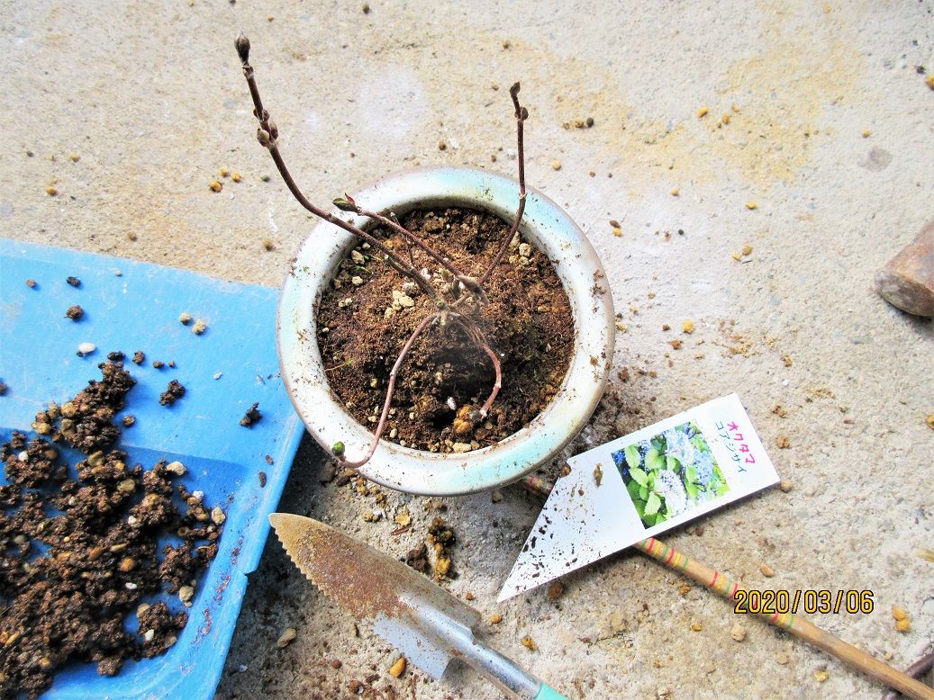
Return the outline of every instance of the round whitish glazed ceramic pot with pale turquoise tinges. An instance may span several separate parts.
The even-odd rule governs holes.
[[[518,184],[484,170],[427,168],[390,175],[354,193],[354,199],[371,211],[391,210],[400,216],[415,208],[460,206],[511,221],[516,216]],[[353,221],[357,226],[370,225],[365,217]],[[438,454],[380,441],[360,469],[367,479],[431,496],[484,491],[514,482],[557,455],[587,424],[606,383],[616,335],[613,299],[600,259],[571,217],[533,189],[519,231],[552,260],[571,301],[573,357],[558,393],[527,427],[473,452]],[[277,322],[279,365],[295,410],[329,453],[335,442],[344,442],[348,459],[363,454],[372,433],[347,413],[328,385],[318,350],[316,312],[338,263],[357,243],[346,231],[319,223],[286,277]]]

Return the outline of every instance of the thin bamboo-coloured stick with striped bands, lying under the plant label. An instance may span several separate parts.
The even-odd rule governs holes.
[[[527,476],[522,485],[531,493],[539,497],[547,497],[551,491],[550,483],[535,474]],[[691,559],[686,553],[664,544],[655,538],[644,539],[632,545],[640,552],[647,554],[665,567],[684,574],[688,579],[697,581],[704,588],[713,591],[716,595],[732,600],[743,587],[731,577],[722,574],[715,568],[706,567],[701,562]],[[920,680],[902,673],[888,664],[873,658],[865,651],[856,649],[847,644],[840,637],[825,632],[820,627],[809,623],[793,613],[756,613],[770,624],[786,629],[795,637],[814,644],[815,647],[827,651],[828,654],[840,659],[844,664],[856,668],[857,671],[881,680],[885,685],[894,688],[914,700],[934,700],[934,689],[931,689]]]

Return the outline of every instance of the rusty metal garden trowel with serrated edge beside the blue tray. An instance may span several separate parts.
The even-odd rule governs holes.
[[[510,697],[564,698],[475,641],[479,613],[402,562],[317,520],[277,512],[269,522],[308,579],[432,678],[457,657]]]

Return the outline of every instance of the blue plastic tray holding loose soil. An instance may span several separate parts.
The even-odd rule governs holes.
[[[81,286],[67,285],[69,275]],[[29,278],[35,288],[24,284]],[[150,469],[163,457],[178,459],[189,469],[180,482],[227,511],[218,556],[199,582],[176,645],[163,656],[127,662],[115,678],[99,676],[92,664],[71,665],[44,697],[213,696],[246,574],[260,560],[266,516],[276,508],[304,432],[278,376],[276,299],[277,291],[266,287],[0,238],[0,379],[9,385],[0,397],[0,437],[28,431],[36,411],[99,379],[98,363],[122,350],[137,381],[124,412],[133,413],[136,424],[122,438],[131,463]],[[85,310],[77,323],[64,317],[76,303]],[[205,319],[203,335],[178,322],[183,311]],[[77,357],[85,341],[97,351]],[[130,362],[136,350],[146,353],[142,367]],[[177,369],[156,370],[154,359],[175,360]],[[170,379],[187,393],[163,407],[159,395]],[[241,427],[255,401],[262,420]],[[260,471],[267,475],[265,488]],[[171,606],[181,609],[177,597]]]

